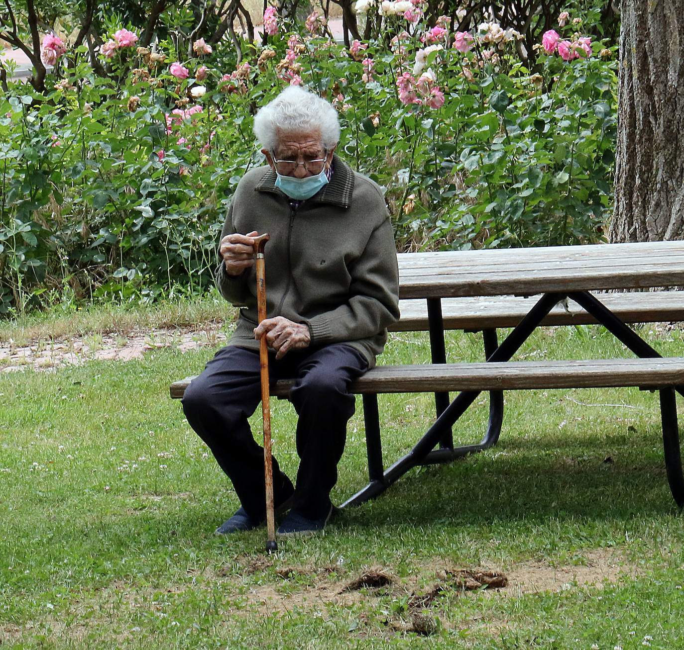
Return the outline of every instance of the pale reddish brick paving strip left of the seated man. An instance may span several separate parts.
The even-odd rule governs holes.
[[[25,368],[49,370],[60,366],[80,366],[94,360],[130,361],[142,359],[146,352],[154,349],[173,348],[187,352],[215,346],[225,340],[226,335],[215,326],[53,338],[48,341],[36,340],[23,346],[16,346],[10,340],[0,344],[0,371]]]

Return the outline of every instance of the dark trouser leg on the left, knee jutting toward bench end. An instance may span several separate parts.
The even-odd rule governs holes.
[[[235,493],[253,519],[265,516],[263,447],[249,418],[261,401],[259,352],[228,346],[216,353],[183,396],[190,426],[209,446]],[[291,485],[273,459],[274,501],[289,498]]]

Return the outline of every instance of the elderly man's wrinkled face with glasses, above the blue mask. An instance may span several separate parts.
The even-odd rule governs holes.
[[[320,174],[324,167],[330,167],[334,147],[327,151],[324,149],[319,131],[277,131],[276,135],[278,146],[273,151],[262,149],[262,152],[272,169],[283,176],[306,178]]]

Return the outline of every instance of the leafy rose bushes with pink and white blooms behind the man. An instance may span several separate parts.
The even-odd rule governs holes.
[[[100,50],[117,82],[94,74],[86,48],[44,41],[70,62],[49,77],[51,92],[16,84],[0,94],[0,310],[209,286],[235,185],[263,162],[254,109],[289,83],[337,107],[339,152],[386,188],[399,247],[601,238],[609,49],[547,33],[533,74],[519,35],[496,23],[452,33],[419,0],[364,7],[384,38],[350,49],[326,36],[321,16],[298,29],[269,7],[265,41],[243,42],[240,61],[200,40],[189,53],[135,47],[137,34],[120,27]],[[561,42],[576,55],[564,60]]]

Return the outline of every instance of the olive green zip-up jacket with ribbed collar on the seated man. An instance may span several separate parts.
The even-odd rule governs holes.
[[[264,250],[267,317],[306,323],[311,346],[347,343],[375,365],[399,318],[399,272],[394,233],[380,187],[333,158],[328,185],[291,205],[275,187],[270,167],[240,180],[221,239],[256,230],[270,236]],[[229,345],[259,349],[255,267],[235,277],[220,260],[218,288],[239,306]]]

